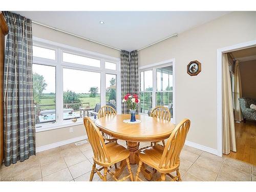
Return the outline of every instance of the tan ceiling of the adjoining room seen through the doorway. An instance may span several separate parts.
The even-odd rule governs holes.
[[[256,59],[256,47],[230,52],[233,59],[242,61]]]

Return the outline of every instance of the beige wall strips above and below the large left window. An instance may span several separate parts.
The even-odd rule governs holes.
[[[120,52],[117,50],[101,46],[95,44],[94,42],[90,42],[36,24],[32,25],[32,32],[33,36],[35,37],[44,38],[47,40],[58,42],[60,44],[65,44],[76,48],[93,51],[104,55],[109,55],[112,57],[120,57]],[[36,147],[41,147],[60,141],[70,140],[73,138],[81,137],[83,135],[86,136],[86,130],[84,129],[83,124],[73,126],[73,133],[69,133],[69,128],[70,127],[65,127],[61,129],[36,133]]]

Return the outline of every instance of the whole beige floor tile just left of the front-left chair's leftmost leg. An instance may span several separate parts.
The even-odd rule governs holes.
[[[92,170],[92,164],[89,160],[82,161],[80,163],[70,166],[69,170],[73,178],[75,179],[83,174],[90,172]]]

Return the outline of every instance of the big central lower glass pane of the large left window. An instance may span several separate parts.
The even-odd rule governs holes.
[[[93,116],[100,109],[100,73],[63,69],[63,119]]]

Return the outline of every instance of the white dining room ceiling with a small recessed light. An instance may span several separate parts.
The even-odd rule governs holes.
[[[35,22],[121,50],[137,50],[228,11],[15,11]],[[104,24],[99,24],[100,21]],[[175,37],[174,37],[175,38]]]

